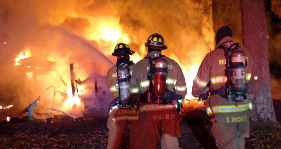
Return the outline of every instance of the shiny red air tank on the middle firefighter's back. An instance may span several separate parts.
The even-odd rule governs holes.
[[[155,60],[155,76],[153,84],[153,96],[156,103],[162,102],[162,96],[166,91],[167,60],[160,57]]]

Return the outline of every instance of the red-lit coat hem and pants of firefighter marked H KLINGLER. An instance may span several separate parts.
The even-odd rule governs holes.
[[[142,107],[140,106],[140,109]],[[150,109],[150,110],[148,110]],[[151,109],[139,113],[139,126],[141,128],[139,144],[140,149],[156,149],[159,137],[162,149],[178,149],[180,136],[179,113],[176,109]]]

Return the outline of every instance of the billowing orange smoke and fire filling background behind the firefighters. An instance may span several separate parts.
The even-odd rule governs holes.
[[[46,90],[48,86],[64,93],[63,97],[56,94],[54,107],[66,101],[70,63],[74,64],[76,79],[98,81],[99,93],[93,95],[92,88],[88,89],[84,93],[89,95],[87,98],[110,101],[104,76],[116,61],[111,56],[115,45],[127,43],[136,51],[131,56],[136,63],[147,54],[147,37],[156,32],[163,35],[168,47],[163,54],[181,65],[188,97],[192,98],[197,68],[209,49],[214,48],[211,0],[1,0],[0,22],[0,104],[23,109],[40,95],[41,101],[34,108],[39,112],[48,112],[46,107],[51,105],[53,93]],[[27,76],[27,68],[14,65],[14,59],[26,48],[35,59],[31,68],[46,69],[34,69],[33,76]]]

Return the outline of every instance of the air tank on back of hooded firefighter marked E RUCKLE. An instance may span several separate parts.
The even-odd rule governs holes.
[[[246,91],[246,55],[242,50],[231,53],[231,89],[237,95],[236,101],[242,101]]]

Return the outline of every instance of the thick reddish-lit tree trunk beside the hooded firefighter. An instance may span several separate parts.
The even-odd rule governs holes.
[[[252,126],[276,126],[271,99],[270,74],[263,0],[241,0],[243,46],[252,54],[252,78],[248,84],[252,100]],[[253,77],[258,79],[254,80]]]

